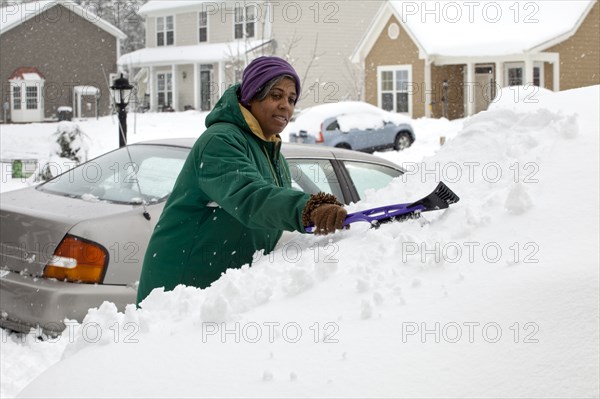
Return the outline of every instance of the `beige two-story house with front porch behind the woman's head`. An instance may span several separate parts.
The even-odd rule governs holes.
[[[349,57],[382,3],[149,1],[138,11],[146,47],[118,63],[153,111],[210,110],[261,55],[294,65],[303,80],[299,107],[357,99],[363,74]]]

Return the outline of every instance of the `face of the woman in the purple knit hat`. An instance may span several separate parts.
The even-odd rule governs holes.
[[[264,100],[250,101],[250,112],[267,139],[281,133],[287,126],[294,113],[295,102],[296,83],[289,78],[283,78],[273,86]]]

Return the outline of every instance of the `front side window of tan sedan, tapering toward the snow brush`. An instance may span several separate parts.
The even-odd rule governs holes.
[[[366,197],[367,191],[379,190],[402,175],[401,171],[385,165],[356,161],[343,162],[360,199]]]

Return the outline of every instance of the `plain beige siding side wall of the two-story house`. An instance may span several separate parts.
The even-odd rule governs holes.
[[[302,78],[300,108],[362,99],[364,71],[350,55],[383,3],[298,1],[274,9],[274,54],[289,59]]]

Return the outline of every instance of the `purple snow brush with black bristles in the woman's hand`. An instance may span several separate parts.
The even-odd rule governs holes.
[[[440,182],[435,190],[416,202],[387,205],[349,213],[346,215],[344,226],[355,222],[368,222],[371,223],[371,226],[378,227],[382,223],[416,219],[421,215],[421,212],[446,209],[458,200],[460,200],[458,195],[454,194],[443,182]],[[314,226],[308,226],[306,231],[312,233],[314,228]]]

